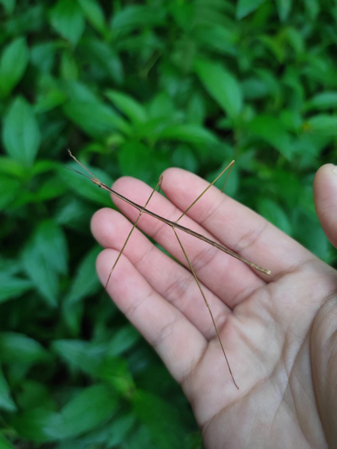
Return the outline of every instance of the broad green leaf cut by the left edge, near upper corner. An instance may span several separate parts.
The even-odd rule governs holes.
[[[18,84],[26,71],[29,49],[24,37],[18,37],[4,48],[0,58],[0,98]]]

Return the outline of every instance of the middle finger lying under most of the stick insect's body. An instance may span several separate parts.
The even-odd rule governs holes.
[[[144,204],[151,193],[149,186],[134,178],[120,178],[114,183],[114,189],[128,198],[132,198],[138,204]],[[118,198],[113,197],[113,201],[131,221],[136,220],[138,211],[135,208]],[[169,220],[176,220],[182,213],[180,209],[177,209],[170,201],[158,193],[151,198],[148,209]],[[179,221],[179,224],[214,240],[214,236],[207,233],[204,228],[188,216],[184,216]],[[154,238],[177,260],[185,266],[187,265],[184,254],[177,244],[170,226],[145,214],[141,216],[137,226]],[[264,285],[261,278],[241,261],[224,254],[222,251],[198,240],[194,236],[179,230],[177,232],[199,280],[213,291],[215,295],[223,299],[229,307],[233,308],[251,292]],[[244,282],[242,282],[243,279]]]

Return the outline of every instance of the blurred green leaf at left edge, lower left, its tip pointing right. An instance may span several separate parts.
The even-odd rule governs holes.
[[[3,363],[34,365],[52,360],[51,354],[39,342],[16,332],[0,332],[0,353]]]

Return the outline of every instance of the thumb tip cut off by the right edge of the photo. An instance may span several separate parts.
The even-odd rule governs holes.
[[[313,183],[315,211],[319,222],[333,246],[337,247],[337,167],[320,167]]]

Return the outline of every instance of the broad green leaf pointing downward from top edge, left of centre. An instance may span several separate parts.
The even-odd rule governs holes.
[[[53,28],[74,46],[79,43],[85,28],[82,9],[74,0],[59,0],[49,14]]]

